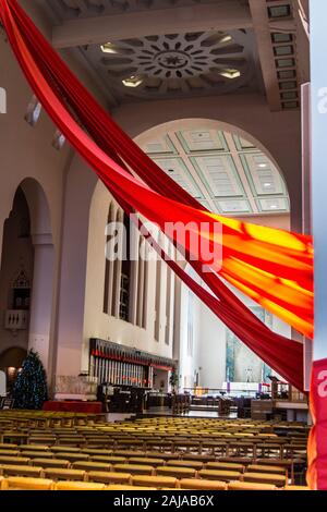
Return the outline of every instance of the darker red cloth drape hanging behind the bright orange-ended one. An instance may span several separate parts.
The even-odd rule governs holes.
[[[95,101],[92,95],[76,80],[74,74],[52,50],[39,31],[33,25],[22,9],[12,2],[12,10],[17,19],[25,41],[33,58],[37,62],[48,84],[55,84],[53,93],[60,92],[58,99],[65,98],[66,103],[73,110],[78,120],[92,134],[97,145],[109,155],[121,168],[129,171],[126,162],[134,173],[138,175],[154,191],[174,198],[179,203],[203,206],[190,196],[174,181],[170,179],[156,163],[150,160],[135,143],[113,122],[110,115]],[[123,160],[122,160],[123,159]],[[126,214],[133,211],[131,205],[119,197],[107,184],[111,194]],[[152,240],[148,236],[148,240]],[[154,244],[156,246],[156,244]],[[164,252],[159,251],[161,256]],[[216,276],[214,272],[202,275],[203,281],[213,291],[213,297],[207,291],[198,287],[184,270],[175,267],[174,263],[167,260],[178,276],[202,298],[211,310],[238,336],[253,352],[255,352],[269,366],[274,367],[286,380],[302,389],[303,375],[299,373],[302,367],[302,345],[292,343],[280,337],[265,326]],[[201,264],[190,261],[198,271]],[[284,354],[289,357],[286,359]]]

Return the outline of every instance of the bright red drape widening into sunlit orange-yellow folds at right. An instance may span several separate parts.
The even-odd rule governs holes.
[[[14,2],[13,2],[14,3]],[[308,236],[288,233],[222,218],[186,206],[154,192],[140,179],[131,176],[74,122],[40,73],[10,9],[1,0],[1,15],[22,69],[33,84],[40,101],[48,106],[51,118],[81,156],[98,173],[110,190],[128,202],[165,232],[167,223],[195,224],[191,235],[209,241],[222,249],[218,273],[247,296],[294,327],[313,337],[313,247]],[[215,224],[222,236],[216,236]],[[203,227],[207,225],[206,231]],[[177,239],[173,239],[177,241]],[[184,248],[190,256],[193,247],[187,240]]]

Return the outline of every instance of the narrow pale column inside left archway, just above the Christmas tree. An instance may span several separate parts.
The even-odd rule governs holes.
[[[34,273],[32,285],[28,349],[38,352],[50,373],[50,340],[53,301],[55,248],[50,234],[33,235]]]

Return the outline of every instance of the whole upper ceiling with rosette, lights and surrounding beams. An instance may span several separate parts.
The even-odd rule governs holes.
[[[36,1],[53,46],[87,68],[111,105],[258,93],[271,110],[300,107],[306,0]]]

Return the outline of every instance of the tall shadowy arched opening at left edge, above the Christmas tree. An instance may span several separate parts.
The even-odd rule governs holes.
[[[25,353],[33,348],[50,368],[53,265],[48,202],[40,184],[27,178],[16,190],[3,227],[0,333],[7,367],[20,363],[14,348]]]

